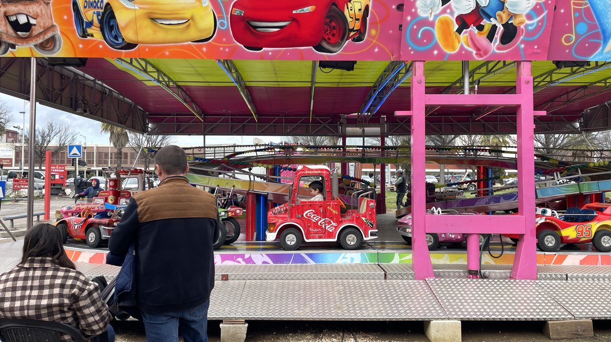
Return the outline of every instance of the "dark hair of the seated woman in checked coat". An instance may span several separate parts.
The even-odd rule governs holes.
[[[76,266],[66,255],[62,244],[62,233],[59,228],[48,223],[40,223],[28,229],[23,240],[23,257],[20,263],[27,258],[49,257],[58,266],[76,269]]]

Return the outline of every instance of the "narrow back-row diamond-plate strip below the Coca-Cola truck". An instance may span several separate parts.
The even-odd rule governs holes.
[[[378,265],[219,265],[215,279],[228,280],[384,280]]]

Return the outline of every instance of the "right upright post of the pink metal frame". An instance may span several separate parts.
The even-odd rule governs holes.
[[[531,62],[518,62],[516,94],[521,97],[517,113],[518,211],[526,232],[520,237],[511,269],[515,279],[536,279],[535,237],[535,124]]]

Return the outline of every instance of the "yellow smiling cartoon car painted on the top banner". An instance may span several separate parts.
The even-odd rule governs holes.
[[[113,49],[201,43],[216,32],[210,0],[72,0],[76,33]]]

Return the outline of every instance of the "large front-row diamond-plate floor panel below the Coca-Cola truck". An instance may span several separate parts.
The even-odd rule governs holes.
[[[422,280],[252,280],[236,308],[243,319],[423,321],[447,315]]]

